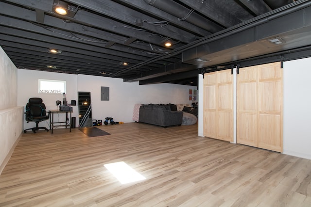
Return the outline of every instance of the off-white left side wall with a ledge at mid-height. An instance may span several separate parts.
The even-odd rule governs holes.
[[[0,48],[0,174],[22,133],[23,108],[17,107],[17,68]]]

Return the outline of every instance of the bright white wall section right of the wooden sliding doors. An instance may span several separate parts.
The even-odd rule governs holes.
[[[311,159],[311,58],[284,62],[283,153]]]

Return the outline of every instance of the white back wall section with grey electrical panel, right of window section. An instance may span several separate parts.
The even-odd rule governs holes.
[[[109,101],[101,101],[101,86],[109,87]],[[168,83],[138,85],[123,79],[78,76],[78,90],[91,92],[92,118],[103,121],[112,117],[118,122],[133,122],[135,104],[191,103],[189,89],[196,87]]]

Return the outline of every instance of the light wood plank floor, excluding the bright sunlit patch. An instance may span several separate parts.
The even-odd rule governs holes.
[[[0,206],[311,207],[311,160],[197,136],[197,125],[108,125],[23,134],[0,175]],[[121,184],[124,161],[146,180]]]

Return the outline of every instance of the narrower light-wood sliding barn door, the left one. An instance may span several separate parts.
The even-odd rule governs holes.
[[[231,70],[204,74],[204,136],[233,142]]]

